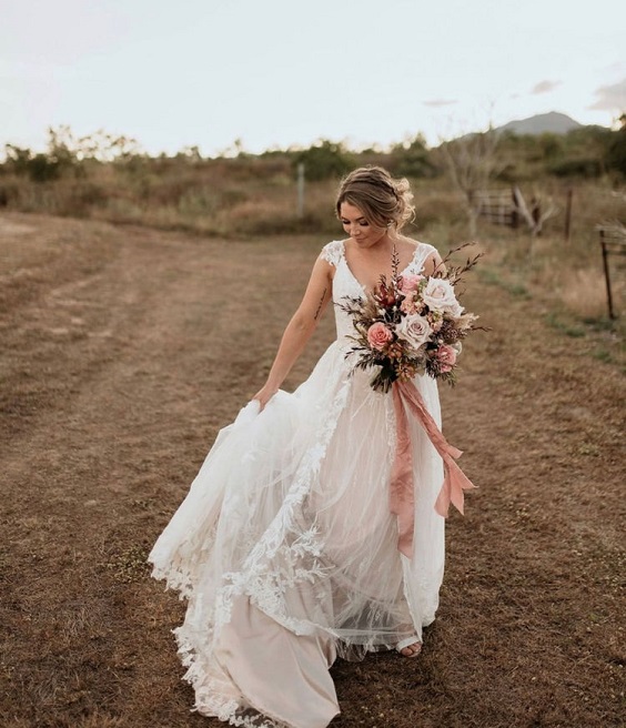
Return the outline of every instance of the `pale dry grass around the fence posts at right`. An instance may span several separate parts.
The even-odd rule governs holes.
[[[565,200],[565,189],[552,190]],[[606,286],[596,225],[602,220],[626,219],[626,199],[599,184],[579,184],[574,194],[572,233],[564,236],[565,205],[551,219],[541,236],[483,223],[478,243],[486,259],[478,272],[485,283],[511,295],[533,299],[534,315],[561,322],[573,336],[594,342],[596,355],[626,365],[626,257],[609,259],[616,321],[608,320]],[[424,237],[463,239],[461,223],[432,224]],[[578,332],[578,333],[574,333]]]

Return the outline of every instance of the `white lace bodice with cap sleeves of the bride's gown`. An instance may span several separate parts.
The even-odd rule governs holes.
[[[411,263],[401,271],[403,274],[416,275],[424,269],[424,263],[431,253],[436,249],[428,243],[417,243],[415,253]],[[345,244],[343,240],[334,240],[322,249],[321,257],[335,267],[333,277],[333,303],[335,304],[335,325],[337,331],[337,341],[340,344],[350,344],[354,342],[347,338],[354,333],[354,326],[350,314],[345,313],[339,305],[345,296],[359,297],[365,294],[365,289],[354,277],[354,274],[345,260]]]

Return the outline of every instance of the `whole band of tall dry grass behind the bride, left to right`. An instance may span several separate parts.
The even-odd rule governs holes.
[[[542,161],[539,148],[518,153]],[[511,150],[509,150],[511,151]],[[519,160],[518,160],[519,161]],[[545,161],[545,160],[543,160]],[[367,154],[360,163],[393,164],[393,155]],[[551,310],[578,321],[606,317],[598,235],[605,221],[626,222],[626,189],[609,179],[567,181],[545,175],[522,182],[527,200],[537,198],[557,213],[541,237],[523,230],[483,224],[478,240],[488,250],[497,277],[522,285]],[[494,183],[506,189],[504,182]],[[410,231],[442,246],[466,236],[462,198],[445,178],[413,181],[416,221]],[[9,210],[88,218],[185,231],[228,239],[274,234],[336,233],[332,199],[336,181],[307,182],[305,214],[296,215],[296,189],[286,155],[192,159],[141,159],[127,164],[87,165],[82,176],[31,183],[4,173],[0,196]],[[564,240],[568,190],[573,191],[572,234]],[[626,311],[626,259],[614,256],[615,309]],[[620,336],[623,330],[619,331]]]

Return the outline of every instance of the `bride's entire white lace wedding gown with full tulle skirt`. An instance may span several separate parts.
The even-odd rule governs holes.
[[[418,273],[433,251],[420,243],[403,272]],[[322,256],[335,267],[335,304],[363,294],[342,241]],[[388,503],[392,396],[372,390],[372,371],[353,371],[352,321],[334,310],[336,341],[311,376],[261,413],[252,401],[220,432],[149,557],[153,576],[189,599],[174,634],[195,709],[234,726],[327,726],[339,712],[335,657],[421,639],[437,608],[442,461],[412,422],[407,558]],[[435,381],[414,382],[440,424]]]

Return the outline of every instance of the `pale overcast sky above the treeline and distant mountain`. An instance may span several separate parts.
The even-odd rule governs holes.
[[[430,144],[626,111],[624,0],[0,0],[0,149]]]

